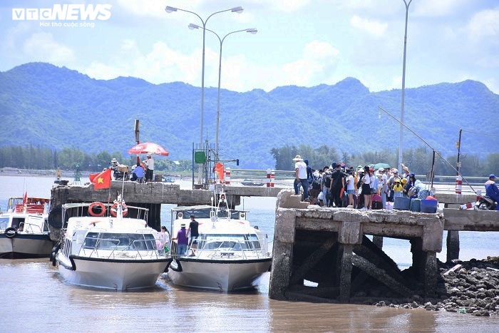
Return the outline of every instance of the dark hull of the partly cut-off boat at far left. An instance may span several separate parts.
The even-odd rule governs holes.
[[[47,234],[0,234],[0,258],[25,259],[50,256],[53,242]]]

